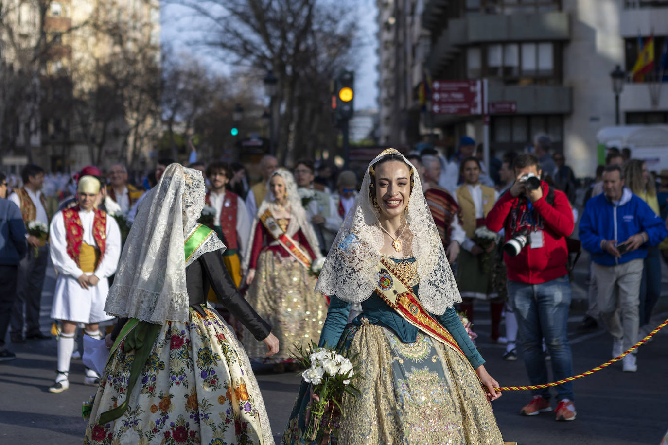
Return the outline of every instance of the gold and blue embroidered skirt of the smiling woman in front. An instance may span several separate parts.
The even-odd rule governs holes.
[[[403,344],[391,330],[347,325],[338,349],[354,358],[359,398],[330,404],[313,442],[302,437],[308,385],[301,390],[283,444],[503,444],[478,377],[466,358],[418,334]],[[356,357],[355,357],[356,355]]]

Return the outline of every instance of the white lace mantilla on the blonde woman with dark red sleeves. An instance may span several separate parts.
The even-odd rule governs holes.
[[[320,244],[318,242],[318,237],[315,236],[315,232],[313,231],[313,226],[311,226],[311,223],[309,222],[309,218],[306,215],[306,211],[304,207],[301,205],[301,197],[299,196],[299,192],[297,191],[297,183],[295,182],[295,177],[293,177],[293,174],[290,173],[289,170],[281,167],[277,169],[271,177],[269,177],[269,180],[267,181],[267,194],[265,195],[265,199],[262,201],[260,204],[259,209],[257,209],[257,213],[255,214],[255,218],[253,219],[253,227],[251,227],[251,241],[248,242],[248,246],[246,246],[246,252],[244,253],[244,262],[242,264],[243,270],[248,270],[248,264],[251,262],[251,252],[253,252],[253,237],[255,236],[255,230],[257,229],[257,225],[261,224],[259,223],[260,221],[260,216],[269,209],[272,214],[275,214],[275,197],[274,194],[271,193],[271,190],[269,190],[269,182],[271,181],[271,178],[274,177],[275,175],[279,175],[283,178],[283,181],[285,182],[285,193],[288,199],[289,207],[290,207],[290,222],[288,224],[287,230],[285,230],[285,233],[290,237],[293,238],[297,232],[299,232],[299,229],[301,229],[301,232],[304,234],[306,237],[306,240],[309,242],[309,246],[311,247],[311,250],[313,250],[313,254],[315,254],[315,259],[320,259],[323,258],[323,255],[320,252]]]

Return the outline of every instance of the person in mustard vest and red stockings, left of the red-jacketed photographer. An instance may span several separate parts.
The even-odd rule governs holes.
[[[506,339],[501,337],[499,331],[504,302],[498,299],[498,292],[492,286],[492,262],[496,260],[492,252],[496,248],[496,242],[483,248],[474,241],[474,232],[485,225],[485,217],[498,199],[496,190],[480,184],[480,171],[477,157],[463,159],[461,174],[464,185],[459,187],[454,195],[461,209],[462,228],[466,232],[456,273],[457,285],[462,295],[460,309],[466,314],[466,318],[473,322],[474,300],[489,301],[492,317],[490,338],[494,343],[506,344]]]

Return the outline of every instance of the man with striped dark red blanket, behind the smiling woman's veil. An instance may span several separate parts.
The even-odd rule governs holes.
[[[452,264],[457,260],[460,246],[466,238],[466,233],[462,229],[457,216],[460,212],[460,206],[454,197],[448,193],[448,190],[436,185],[441,172],[438,157],[426,155],[422,159],[420,157],[409,157],[408,160],[418,169],[424,197],[432,212],[432,217],[434,217],[434,223],[441,237],[443,248],[446,250],[448,261]]]

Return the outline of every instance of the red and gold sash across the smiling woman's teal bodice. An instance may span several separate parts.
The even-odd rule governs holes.
[[[430,316],[418,297],[413,293],[413,288],[399,278],[394,269],[391,261],[381,258],[377,266],[378,286],[375,290],[376,294],[401,318],[424,332],[424,334],[434,338],[434,340],[462,354],[462,357],[466,359],[464,352],[452,338],[450,332]],[[468,363],[468,360],[466,362]]]

